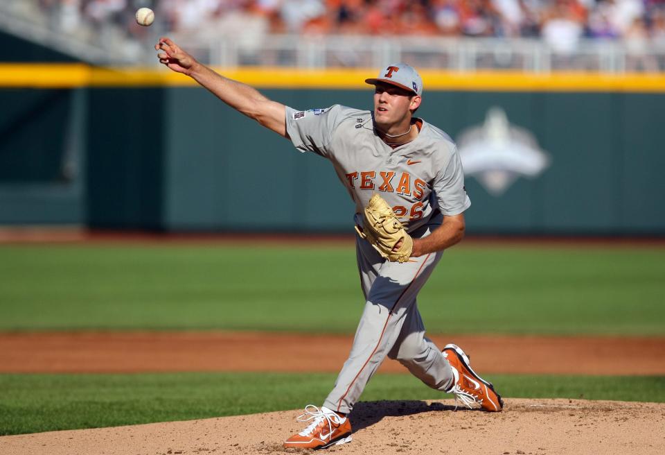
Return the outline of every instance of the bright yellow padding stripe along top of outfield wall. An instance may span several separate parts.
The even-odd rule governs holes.
[[[365,78],[376,69],[217,69],[232,79],[259,88],[366,89]],[[518,71],[421,71],[425,91],[486,92],[645,92],[665,93],[665,74],[600,74]],[[166,68],[120,69],[82,64],[0,64],[0,87],[188,87],[187,76]]]

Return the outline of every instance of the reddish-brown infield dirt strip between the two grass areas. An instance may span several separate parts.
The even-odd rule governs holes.
[[[665,375],[663,337],[431,338],[460,345],[485,374]],[[264,332],[0,333],[0,372],[337,372],[352,342],[348,335]],[[380,371],[405,368],[387,360]]]

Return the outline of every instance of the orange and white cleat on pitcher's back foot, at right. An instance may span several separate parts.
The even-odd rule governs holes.
[[[445,390],[446,393],[454,393],[455,401],[461,401],[469,409],[479,407],[484,411],[498,412],[504,408],[501,395],[496,393],[491,382],[471,369],[468,355],[459,346],[446,345],[441,352],[450,363],[454,376],[452,386]]]

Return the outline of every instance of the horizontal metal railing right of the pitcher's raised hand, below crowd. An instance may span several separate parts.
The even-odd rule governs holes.
[[[386,62],[409,62],[420,69],[451,71],[665,71],[664,44],[636,52],[620,41],[582,40],[576,51],[561,53],[542,40],[526,38],[269,35],[253,46],[231,40],[202,42],[191,36],[175,39],[199,60],[222,67],[380,67]]]

